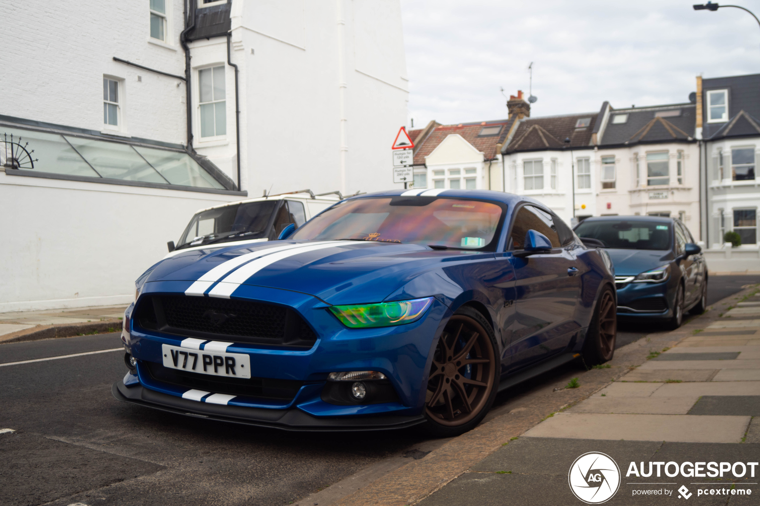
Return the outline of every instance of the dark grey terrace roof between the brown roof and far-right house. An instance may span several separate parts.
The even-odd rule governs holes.
[[[696,121],[694,104],[670,104],[654,107],[612,109],[600,146],[692,140]],[[624,123],[616,116],[627,115]],[[621,118],[622,119],[622,118]]]

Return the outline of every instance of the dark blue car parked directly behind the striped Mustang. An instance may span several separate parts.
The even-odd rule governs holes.
[[[600,216],[584,219],[575,233],[610,253],[620,319],[679,328],[684,313],[700,314],[707,308],[707,265],[701,247],[679,220]]]

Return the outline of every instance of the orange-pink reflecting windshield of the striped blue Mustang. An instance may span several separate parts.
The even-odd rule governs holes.
[[[481,200],[394,196],[348,200],[322,212],[291,239],[355,239],[456,249],[495,249],[502,206]]]

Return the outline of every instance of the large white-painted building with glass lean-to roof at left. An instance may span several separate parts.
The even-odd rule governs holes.
[[[394,186],[398,0],[29,0],[0,17],[0,312],[128,303],[199,208]]]

